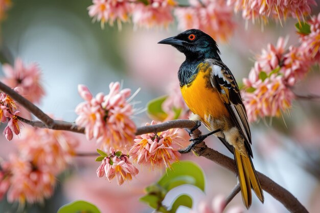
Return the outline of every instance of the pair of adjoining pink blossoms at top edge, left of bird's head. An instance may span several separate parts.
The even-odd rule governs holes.
[[[171,10],[176,3],[174,0],[93,0],[88,7],[89,16],[94,21],[108,22],[113,25],[115,21],[121,27],[121,22],[129,21],[132,16],[134,25],[138,27],[168,26],[173,21]]]

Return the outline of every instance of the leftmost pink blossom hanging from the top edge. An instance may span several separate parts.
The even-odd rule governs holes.
[[[92,3],[88,7],[89,16],[94,21],[101,21],[101,28],[105,22],[112,26],[115,21],[121,27],[121,21],[127,22],[132,12],[132,5],[127,0],[93,0]]]

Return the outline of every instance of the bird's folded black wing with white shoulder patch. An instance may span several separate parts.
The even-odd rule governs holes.
[[[211,84],[218,90],[220,98],[230,113],[232,121],[238,127],[244,138],[244,144],[249,155],[252,156],[253,154],[250,147],[251,132],[248,118],[235,77],[222,61],[207,59],[206,62],[209,63],[212,68]]]

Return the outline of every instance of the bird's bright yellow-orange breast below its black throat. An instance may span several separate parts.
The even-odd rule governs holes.
[[[182,86],[181,93],[188,107],[194,113],[200,116],[205,122],[205,117],[211,115],[213,119],[219,119],[228,116],[217,89],[211,86],[209,80],[211,68],[199,71],[195,79],[188,85]]]

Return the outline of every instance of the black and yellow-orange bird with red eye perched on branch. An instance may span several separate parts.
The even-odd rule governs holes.
[[[263,191],[252,162],[252,138],[240,90],[230,69],[222,62],[217,42],[198,29],[190,29],[159,41],[170,44],[186,59],[179,67],[178,79],[183,99],[192,111],[191,120],[211,131],[193,139],[181,153],[214,134],[234,155],[243,204],[252,204],[252,189],[263,203]]]

